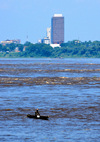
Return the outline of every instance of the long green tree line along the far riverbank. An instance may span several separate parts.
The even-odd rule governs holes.
[[[0,44],[0,57],[50,57],[50,58],[68,58],[68,57],[88,57],[100,58],[100,41],[79,40],[62,43],[61,47],[52,48],[47,44]],[[16,51],[18,48],[18,51]]]

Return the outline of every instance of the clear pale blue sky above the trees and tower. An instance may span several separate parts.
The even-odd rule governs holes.
[[[54,14],[64,16],[65,42],[100,41],[100,0],[0,0],[0,41],[37,43]]]

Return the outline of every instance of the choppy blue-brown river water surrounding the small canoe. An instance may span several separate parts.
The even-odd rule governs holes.
[[[0,59],[3,141],[99,142],[100,59]]]

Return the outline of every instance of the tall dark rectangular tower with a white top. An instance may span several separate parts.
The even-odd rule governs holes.
[[[51,43],[61,44],[64,42],[64,17],[62,14],[54,14],[51,19]]]

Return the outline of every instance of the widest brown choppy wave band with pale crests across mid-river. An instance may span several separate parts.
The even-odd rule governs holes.
[[[1,86],[100,84],[100,77],[0,77]]]

